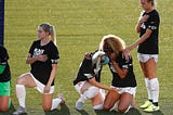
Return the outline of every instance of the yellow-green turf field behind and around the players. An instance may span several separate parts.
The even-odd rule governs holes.
[[[138,85],[137,110],[131,110],[127,115],[173,115],[173,0],[157,1],[161,17],[157,71],[160,81],[161,111],[149,114],[138,108],[146,100],[147,92],[135,49],[132,51],[132,56]],[[55,93],[64,94],[66,105],[44,113],[40,93],[27,88],[28,115],[120,115],[117,112],[95,112],[90,101],[84,104],[84,111],[77,112],[75,103],[79,94],[72,87],[72,80],[83,54],[97,49],[104,35],[115,34],[124,39],[127,44],[137,39],[138,35],[134,27],[141,11],[139,0],[5,0],[4,44],[10,53],[14,107],[18,107],[15,82],[21,74],[29,72],[29,65],[25,63],[25,59],[30,44],[37,39],[37,26],[49,22],[56,27],[57,46],[61,52]],[[111,75],[106,66],[103,69],[102,82],[110,86],[110,80]],[[6,115],[10,113],[8,112]]]

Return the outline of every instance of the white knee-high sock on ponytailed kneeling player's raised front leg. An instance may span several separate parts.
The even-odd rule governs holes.
[[[26,98],[26,90],[24,85],[16,85],[16,95],[18,99],[19,106],[25,107],[25,98]]]

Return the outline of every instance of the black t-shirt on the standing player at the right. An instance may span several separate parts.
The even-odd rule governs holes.
[[[158,46],[158,36],[159,36],[159,24],[160,17],[159,13],[154,10],[149,13],[144,12],[143,15],[149,15],[148,20],[141,26],[141,34],[142,37],[146,29],[152,30],[149,38],[147,38],[143,43],[138,46],[138,52],[144,54],[158,54],[159,53],[159,46]]]

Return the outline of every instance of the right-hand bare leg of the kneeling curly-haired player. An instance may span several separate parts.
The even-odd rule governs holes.
[[[122,93],[118,104],[118,112],[120,113],[128,112],[132,103],[133,103],[133,94],[128,92]]]

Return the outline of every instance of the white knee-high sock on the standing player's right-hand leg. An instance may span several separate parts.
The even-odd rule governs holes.
[[[152,102],[159,101],[159,80],[158,78],[150,79],[150,90],[152,94]]]

